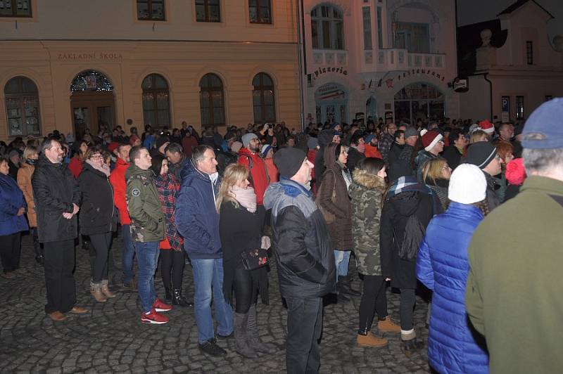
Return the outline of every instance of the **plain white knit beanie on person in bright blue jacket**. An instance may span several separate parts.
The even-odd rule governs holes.
[[[473,204],[485,200],[487,181],[485,174],[476,165],[462,164],[450,177],[448,198],[461,204]]]

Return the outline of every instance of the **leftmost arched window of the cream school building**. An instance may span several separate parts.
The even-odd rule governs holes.
[[[31,79],[14,77],[4,86],[8,136],[41,134],[39,91]]]

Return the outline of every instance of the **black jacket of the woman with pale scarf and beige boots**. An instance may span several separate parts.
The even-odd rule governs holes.
[[[113,188],[106,174],[84,162],[78,186],[82,193],[80,233],[96,235],[115,231],[118,219],[113,205]]]

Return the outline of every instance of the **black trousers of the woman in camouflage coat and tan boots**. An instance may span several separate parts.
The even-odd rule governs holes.
[[[387,295],[383,276],[364,276],[364,292],[360,301],[360,330],[372,328],[375,313],[384,320],[387,316]]]

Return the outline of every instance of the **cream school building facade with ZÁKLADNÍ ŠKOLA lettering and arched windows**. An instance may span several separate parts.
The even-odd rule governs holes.
[[[0,138],[300,122],[293,0],[0,0]]]

